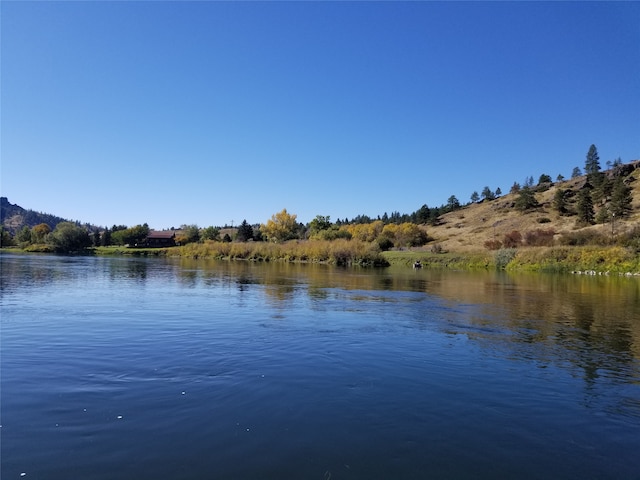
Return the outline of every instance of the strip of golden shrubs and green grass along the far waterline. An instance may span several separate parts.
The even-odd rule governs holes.
[[[381,252],[357,240],[292,240],[284,243],[214,242],[171,248],[98,247],[98,255],[167,256],[256,262],[325,263],[340,266],[504,269],[508,271],[640,275],[640,255],[624,247],[555,246],[497,251],[433,253],[423,249]]]

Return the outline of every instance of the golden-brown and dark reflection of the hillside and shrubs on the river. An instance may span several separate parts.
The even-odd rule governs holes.
[[[413,316],[417,328],[431,322],[430,328],[464,335],[508,358],[569,369],[588,388],[601,377],[640,382],[637,279],[242,262],[201,262],[198,267],[210,281],[233,277],[241,291],[261,286],[265,300],[283,311],[299,292],[318,311],[353,292],[349,302],[361,304],[363,311],[383,312],[382,304],[389,303],[394,310],[389,315]],[[422,295],[402,296],[400,291]],[[421,305],[425,298],[441,305]],[[411,306],[403,309],[405,304]]]

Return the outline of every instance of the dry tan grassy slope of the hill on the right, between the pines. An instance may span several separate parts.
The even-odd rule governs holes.
[[[628,175],[627,182],[632,188],[632,213],[624,219],[615,219],[614,233],[619,235],[634,227],[640,226],[640,162],[632,162],[637,168]],[[552,229],[554,240],[576,230],[597,230],[611,234],[612,224],[590,226],[580,225],[575,215],[560,215],[553,208],[553,197],[558,188],[571,190],[574,193],[585,182],[585,177],[578,177],[563,182],[555,182],[544,192],[536,192],[535,197],[540,207],[525,213],[516,210],[513,205],[517,194],[507,194],[492,201],[483,201],[463,207],[455,212],[447,213],[440,218],[439,225],[428,228],[429,236],[435,239],[445,251],[472,252],[486,250],[488,240],[502,240],[505,234],[514,230],[523,236],[536,229]],[[574,195],[575,199],[575,195]],[[570,208],[575,208],[570,203]],[[601,205],[594,204],[596,213]],[[425,249],[428,249],[426,246]]]

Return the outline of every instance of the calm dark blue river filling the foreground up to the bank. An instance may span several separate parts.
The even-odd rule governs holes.
[[[9,479],[640,479],[640,280],[0,255]]]

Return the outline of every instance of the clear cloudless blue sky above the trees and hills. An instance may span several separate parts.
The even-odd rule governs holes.
[[[640,158],[638,2],[0,8],[1,194],[65,218],[411,213]]]

